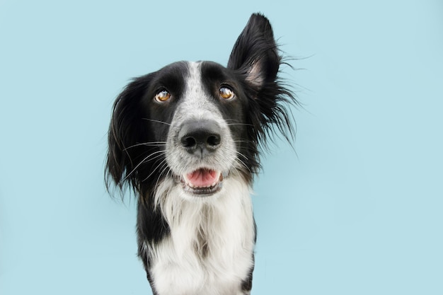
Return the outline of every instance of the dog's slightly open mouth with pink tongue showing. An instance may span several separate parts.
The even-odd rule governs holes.
[[[186,192],[194,195],[212,195],[222,189],[223,175],[220,171],[200,168],[182,175],[181,183]]]

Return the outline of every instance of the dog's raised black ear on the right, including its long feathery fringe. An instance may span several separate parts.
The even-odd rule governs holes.
[[[297,105],[294,93],[279,74],[282,57],[265,16],[254,13],[234,45],[228,68],[243,77],[247,85],[249,108],[246,114],[251,142],[267,146],[267,138],[275,135],[275,127],[289,142],[294,138],[289,105]],[[259,162],[258,150],[248,146]]]

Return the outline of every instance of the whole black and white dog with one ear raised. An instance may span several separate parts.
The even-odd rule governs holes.
[[[270,22],[253,13],[226,67],[176,62],[113,105],[106,186],[137,196],[138,255],[155,295],[250,294],[260,153],[294,138]]]

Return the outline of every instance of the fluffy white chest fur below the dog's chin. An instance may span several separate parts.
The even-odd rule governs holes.
[[[189,200],[180,187],[162,183],[157,195],[171,235],[149,245],[156,291],[166,295],[243,294],[253,266],[250,188],[227,178],[219,195]]]

